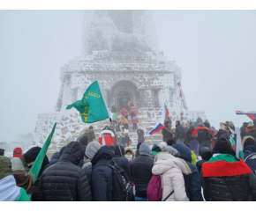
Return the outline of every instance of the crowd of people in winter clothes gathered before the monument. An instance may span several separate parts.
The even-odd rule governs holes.
[[[94,128],[44,156],[34,180],[29,170],[41,148],[13,156],[0,150],[0,200],[9,201],[246,201],[256,200],[256,120],[240,128],[245,159],[235,153],[234,124],[221,122],[218,131],[200,118],[186,125],[166,120],[162,142],[152,147],[137,130],[134,151],[127,131],[117,142],[116,131]],[[240,136],[239,135],[239,136]],[[249,158],[248,158],[249,157]]]

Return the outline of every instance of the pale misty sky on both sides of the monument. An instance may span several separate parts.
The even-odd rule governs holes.
[[[54,112],[60,68],[80,55],[84,11],[0,11],[0,142]],[[154,11],[159,47],[182,69],[189,110],[211,125],[256,110],[256,11]]]

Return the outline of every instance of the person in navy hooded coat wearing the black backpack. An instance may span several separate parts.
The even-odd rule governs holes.
[[[94,201],[112,200],[113,172],[106,164],[113,164],[114,150],[105,145],[99,149],[92,159],[92,193]],[[98,165],[99,164],[99,165]]]

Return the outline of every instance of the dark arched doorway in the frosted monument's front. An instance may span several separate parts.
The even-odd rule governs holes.
[[[110,104],[116,105],[117,109],[121,110],[132,100],[137,105],[139,91],[136,84],[128,80],[121,80],[114,84],[110,90]]]

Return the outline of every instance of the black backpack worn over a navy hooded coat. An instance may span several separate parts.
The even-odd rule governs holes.
[[[127,173],[117,164],[96,164],[94,168],[99,165],[107,165],[113,172],[113,192],[112,201],[132,201],[132,183]]]

